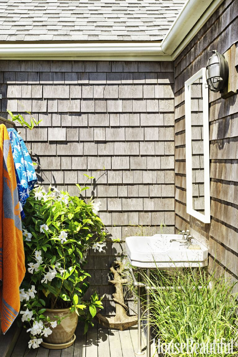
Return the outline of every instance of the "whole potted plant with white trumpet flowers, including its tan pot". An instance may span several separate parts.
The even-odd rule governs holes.
[[[86,189],[77,186],[80,192]],[[70,346],[78,319],[85,321],[86,332],[96,309],[103,308],[96,292],[83,301],[90,277],[83,268],[87,252],[105,246],[99,209],[100,202],[86,203],[53,187],[30,193],[22,222],[27,272],[20,289],[20,316],[30,332],[29,348],[39,347],[42,340],[45,347]]]

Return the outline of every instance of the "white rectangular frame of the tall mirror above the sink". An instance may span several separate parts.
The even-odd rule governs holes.
[[[204,215],[193,209],[192,196],[192,130],[191,130],[191,85],[202,77],[203,93],[203,159],[204,159]],[[210,162],[209,162],[209,116],[208,116],[208,86],[206,81],[206,68],[201,68],[197,73],[184,83],[185,94],[185,138],[186,138],[186,190],[187,213],[203,223],[211,222],[210,210]]]

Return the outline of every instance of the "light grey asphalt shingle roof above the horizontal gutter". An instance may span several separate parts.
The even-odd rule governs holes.
[[[159,41],[185,0],[0,0],[0,41]]]

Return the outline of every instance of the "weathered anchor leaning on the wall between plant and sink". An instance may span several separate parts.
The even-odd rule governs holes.
[[[110,270],[114,275],[114,279],[108,280],[108,282],[114,284],[116,289],[115,293],[112,294],[113,300],[116,304],[116,315],[106,317],[97,313],[96,317],[101,325],[123,331],[126,330],[126,328],[137,324],[137,315],[127,315],[129,309],[124,302],[122,285],[126,284],[128,280],[121,277],[122,271],[124,270],[123,263],[120,261],[113,262]]]

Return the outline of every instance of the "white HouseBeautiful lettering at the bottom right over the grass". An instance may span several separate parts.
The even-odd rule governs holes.
[[[237,350],[238,343],[234,342],[233,338],[231,341],[226,341],[224,338],[220,340],[213,340],[212,342],[196,342],[192,338],[187,338],[186,342],[174,343],[173,341],[169,343],[161,342],[160,339],[155,344],[155,339],[153,344],[157,350],[157,353],[171,353],[173,355],[178,355],[179,353],[187,353],[187,355],[209,355],[209,354],[224,354],[228,355]]]

